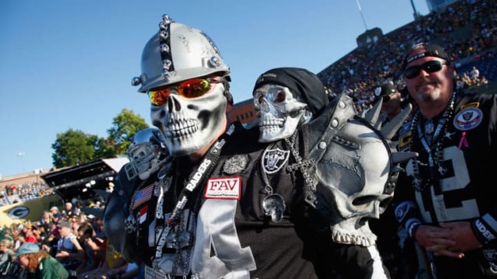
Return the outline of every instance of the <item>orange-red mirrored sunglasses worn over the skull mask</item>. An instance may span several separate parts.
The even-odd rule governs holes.
[[[175,89],[179,96],[183,96],[187,99],[198,98],[206,94],[211,90],[211,83],[220,83],[215,79],[188,79],[177,83],[176,85],[168,85],[162,87],[159,90],[148,90],[147,95],[150,99],[152,105],[164,105],[167,102],[168,96],[171,94],[172,90]]]

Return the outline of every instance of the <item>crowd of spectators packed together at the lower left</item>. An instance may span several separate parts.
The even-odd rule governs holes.
[[[32,278],[17,253],[26,243],[59,261],[68,278],[134,278],[138,267],[126,262],[107,241],[101,199],[73,200],[63,209],[51,207],[40,220],[0,228],[0,278]],[[94,214],[91,214],[94,213]]]

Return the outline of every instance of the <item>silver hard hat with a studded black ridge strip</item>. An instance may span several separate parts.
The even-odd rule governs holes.
[[[146,43],[142,53],[142,74],[133,78],[133,86],[145,93],[151,88],[209,74],[229,74],[217,46],[204,32],[176,23],[162,16],[157,32]]]

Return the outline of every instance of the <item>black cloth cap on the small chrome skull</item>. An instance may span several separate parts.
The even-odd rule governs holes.
[[[269,83],[289,87],[293,96],[300,96],[304,99],[314,115],[318,115],[322,108],[329,103],[326,89],[321,80],[308,70],[302,68],[268,70],[259,76],[252,92]]]

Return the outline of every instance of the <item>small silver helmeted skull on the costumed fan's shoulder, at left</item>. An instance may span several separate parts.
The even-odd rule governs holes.
[[[144,129],[133,136],[133,141],[126,151],[130,163],[124,169],[129,180],[137,175],[146,180],[161,167],[168,154],[165,141],[157,128]]]

